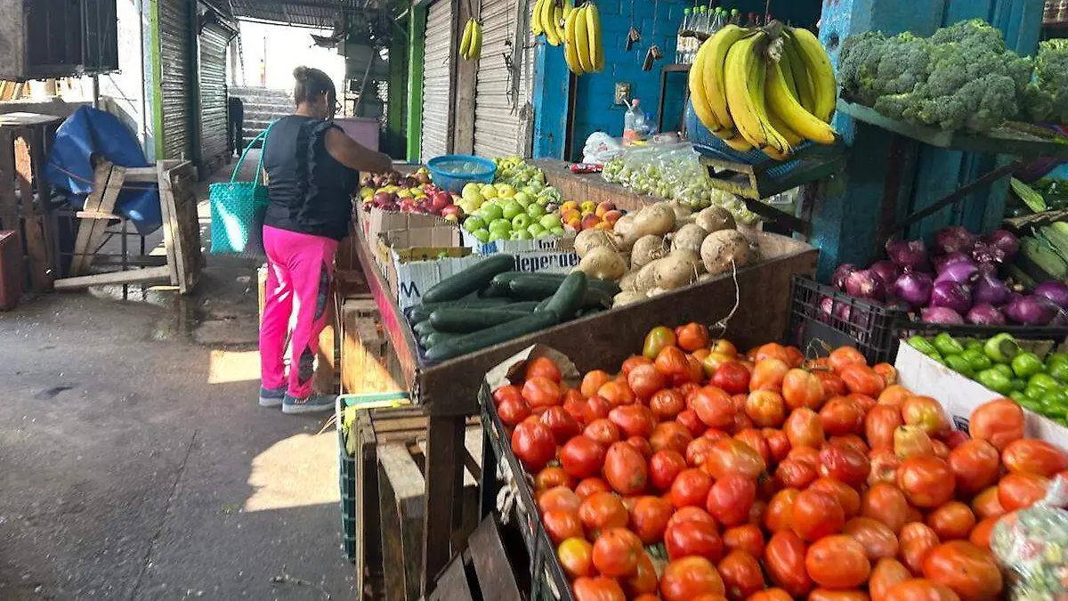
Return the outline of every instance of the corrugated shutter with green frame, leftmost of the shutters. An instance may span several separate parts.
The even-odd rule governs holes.
[[[191,158],[192,68],[190,47],[193,28],[190,0],[159,1],[160,95],[163,111],[162,158]]]

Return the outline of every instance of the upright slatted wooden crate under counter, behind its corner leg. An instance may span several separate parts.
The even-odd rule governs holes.
[[[422,407],[359,412],[356,445],[356,570],[358,590],[386,601],[413,601],[423,579],[426,431]],[[457,546],[477,523],[482,429],[468,421],[464,527]],[[368,598],[366,595],[364,598]]]

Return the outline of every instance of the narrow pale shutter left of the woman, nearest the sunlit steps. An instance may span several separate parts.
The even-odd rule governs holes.
[[[200,34],[201,166],[215,170],[226,155],[226,45],[230,32],[207,24]]]

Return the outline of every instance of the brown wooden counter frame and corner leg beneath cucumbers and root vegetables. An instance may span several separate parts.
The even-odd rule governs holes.
[[[599,175],[596,179],[600,181]],[[571,198],[599,197],[576,192]],[[627,202],[626,198],[619,198]],[[637,209],[641,206],[637,204],[639,201],[649,202],[644,197],[632,196],[631,204],[623,206]],[[790,275],[814,274],[819,252],[789,237],[766,233],[756,235],[759,236],[765,260],[739,269],[736,275],[721,274],[694,286],[433,365],[420,364],[411,329],[366,241],[359,237],[357,257],[380,311],[386,334],[398,357],[404,385],[410,390],[412,399],[425,406],[429,417],[426,495],[434,499],[435,510],[427,512],[424,528],[424,587],[449,561],[452,533],[462,515],[461,503],[457,499],[462,486],[465,420],[467,416],[478,413],[477,394],[484,374],[534,343],[548,344],[578,357],[578,367],[582,370],[618,364],[629,356],[632,349],[641,345],[650,328],[665,320],[713,324],[731,315],[729,328],[737,333],[735,339],[742,345],[782,339],[790,302]]]

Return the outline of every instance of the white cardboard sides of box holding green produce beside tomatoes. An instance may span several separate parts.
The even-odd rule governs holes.
[[[897,351],[894,367],[897,368],[898,383],[917,395],[931,397],[942,403],[957,430],[968,431],[972,410],[987,401],[1004,397],[905,343]],[[1023,413],[1025,436],[1068,448],[1068,428],[1026,409]]]

